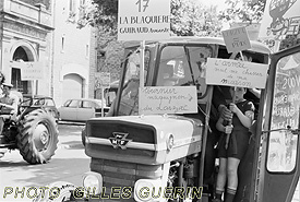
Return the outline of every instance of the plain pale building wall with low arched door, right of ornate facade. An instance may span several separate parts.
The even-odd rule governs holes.
[[[70,1],[73,2],[72,10]],[[92,27],[77,28],[80,0],[53,0],[53,98],[58,106],[68,97],[89,97],[89,66],[91,66],[91,32]],[[72,11],[71,11],[72,10]],[[82,82],[79,94],[70,94],[68,83],[70,78]],[[68,81],[67,81],[68,79]],[[71,82],[72,83],[72,82]],[[71,84],[70,83],[70,84]],[[70,86],[72,88],[73,86]],[[75,91],[72,88],[72,91]]]

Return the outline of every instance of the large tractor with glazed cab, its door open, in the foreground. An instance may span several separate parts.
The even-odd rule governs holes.
[[[218,161],[211,136],[212,115],[220,114],[214,106],[218,100],[215,93],[220,91],[225,97],[229,93],[226,85],[206,84],[209,67],[205,64],[208,58],[236,59],[238,52],[228,52],[224,39],[213,37],[176,37],[140,45],[125,43],[119,88],[107,117],[86,121],[82,135],[91,171],[83,175],[83,185],[55,183],[70,189],[62,189],[67,194],[51,200],[215,200]],[[264,44],[251,41],[251,48],[242,51],[252,63],[267,69],[260,98],[251,92],[247,95],[255,105],[255,121],[239,165],[235,202],[299,199],[299,50],[300,46],[272,55]],[[141,114],[139,95],[157,86],[195,86],[197,112]],[[35,201],[47,199],[39,195]]]

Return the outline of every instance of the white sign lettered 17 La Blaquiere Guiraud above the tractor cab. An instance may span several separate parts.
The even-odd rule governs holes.
[[[170,0],[119,0],[118,40],[170,37]]]

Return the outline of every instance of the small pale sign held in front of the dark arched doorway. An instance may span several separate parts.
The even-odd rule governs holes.
[[[44,62],[19,62],[19,67],[22,81],[44,79]]]

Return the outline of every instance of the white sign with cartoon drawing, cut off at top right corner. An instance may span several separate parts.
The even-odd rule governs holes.
[[[280,39],[280,36],[297,35],[300,25],[299,8],[299,0],[266,0],[259,37]]]

